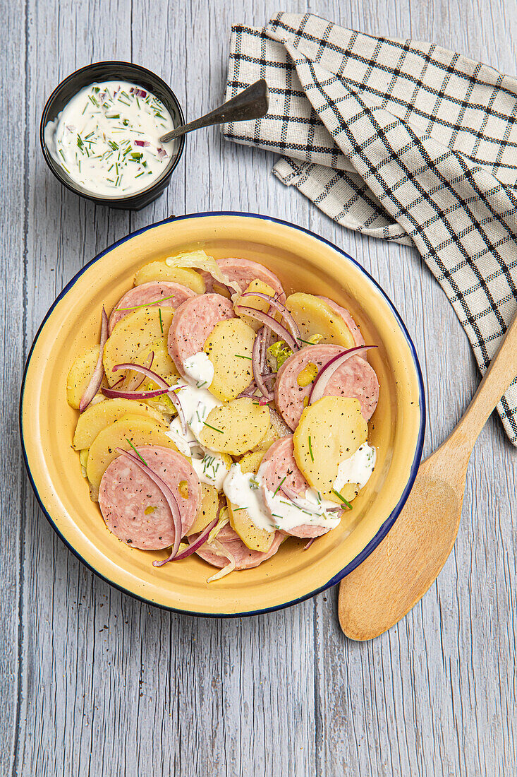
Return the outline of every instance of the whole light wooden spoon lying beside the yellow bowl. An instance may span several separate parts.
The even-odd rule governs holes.
[[[438,577],[456,541],[474,443],[516,375],[517,317],[460,423],[420,465],[393,528],[342,580],[338,615],[346,636],[373,639],[387,631],[404,618]]]

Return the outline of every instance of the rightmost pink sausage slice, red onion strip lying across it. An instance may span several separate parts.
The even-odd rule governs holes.
[[[300,386],[297,378],[308,364],[318,371],[343,349],[338,345],[309,345],[284,361],[275,383],[275,402],[280,415],[291,429],[296,429],[304,412],[304,399],[312,383]],[[379,400],[379,382],[373,367],[359,356],[352,356],[329,379],[324,396],[348,396],[359,399],[361,412],[369,420]]]

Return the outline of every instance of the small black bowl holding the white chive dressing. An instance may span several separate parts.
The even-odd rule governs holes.
[[[40,124],[40,143],[45,157],[45,162],[50,167],[54,176],[64,185],[67,189],[70,189],[75,194],[79,194],[81,197],[85,197],[87,200],[92,200],[98,205],[109,205],[109,207],[119,207],[128,209],[130,211],[139,211],[141,207],[145,207],[163,192],[166,186],[170,183],[172,172],[175,166],[178,164],[179,159],[183,153],[185,146],[185,136],[179,138],[179,146],[175,155],[172,156],[168,166],[161,173],[158,179],[155,179],[151,186],[147,186],[147,189],[141,192],[128,194],[126,197],[103,197],[100,194],[92,194],[79,186],[73,181],[67,172],[54,160],[47,148],[47,141],[45,140],[45,127],[49,121],[54,121],[57,114],[64,109],[64,106],[85,86],[93,84],[95,82],[102,81],[116,81],[116,80],[129,81],[137,84],[145,89],[147,92],[153,92],[161,102],[165,105],[168,112],[172,116],[175,127],[179,127],[181,124],[185,124],[182,108],[175,96],[172,89],[162,81],[158,75],[155,75],[150,70],[142,68],[139,64],[132,64],[131,62],[95,62],[95,64],[88,64],[85,68],[76,70],[75,73],[68,75],[64,81],[61,81],[54,92],[47,99],[47,103],[43,108],[43,114]]]

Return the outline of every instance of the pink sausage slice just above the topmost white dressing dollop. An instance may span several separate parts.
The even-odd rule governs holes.
[[[168,330],[168,353],[182,375],[183,362],[203,350],[213,327],[234,318],[231,301],[220,294],[199,294],[179,306]]]

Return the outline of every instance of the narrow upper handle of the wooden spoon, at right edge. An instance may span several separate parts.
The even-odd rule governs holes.
[[[470,458],[474,443],[481,429],[512,381],[517,378],[517,315],[506,330],[498,352],[484,374],[467,412],[449,437],[449,448],[453,444],[459,453]]]

